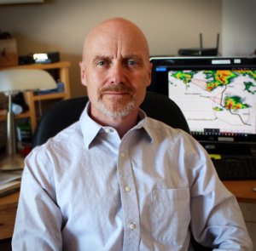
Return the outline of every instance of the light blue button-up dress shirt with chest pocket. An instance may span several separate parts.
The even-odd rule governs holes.
[[[89,103],[90,104],[90,103]],[[120,139],[88,116],[26,157],[13,250],[252,250],[236,198],[189,134],[140,111]]]

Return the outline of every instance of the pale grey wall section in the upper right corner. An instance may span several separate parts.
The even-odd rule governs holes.
[[[223,0],[223,55],[253,54],[256,49],[256,1]]]

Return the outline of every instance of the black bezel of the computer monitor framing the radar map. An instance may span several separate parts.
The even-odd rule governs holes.
[[[212,65],[212,60],[218,62]],[[164,79],[162,83],[156,81],[156,67],[166,66],[172,70],[208,70],[208,69],[255,69],[255,57],[151,57],[150,62],[153,64],[152,68],[152,81],[148,87],[148,91],[154,91],[168,96],[168,79]],[[223,62],[223,63],[221,63]],[[227,64],[227,62],[230,62]],[[240,63],[239,63],[240,62]],[[157,74],[160,74],[158,71]],[[164,73],[163,73],[164,76]],[[167,76],[166,76],[167,77]],[[222,145],[230,144],[256,144],[256,134],[196,134],[191,132],[196,140],[203,144],[218,143]],[[221,139],[220,139],[221,137]]]

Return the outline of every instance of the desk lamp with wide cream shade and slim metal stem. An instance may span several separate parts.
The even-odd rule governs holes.
[[[13,69],[0,71],[0,92],[8,96],[6,154],[0,157],[0,170],[24,167],[24,158],[16,150],[15,116],[12,111],[12,95],[28,90],[56,88],[49,72],[37,69]]]

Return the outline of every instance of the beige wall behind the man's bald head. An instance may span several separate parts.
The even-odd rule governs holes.
[[[211,6],[211,8],[209,8]],[[44,4],[0,6],[0,30],[17,38],[20,55],[59,51],[72,62],[72,95],[84,93],[79,60],[84,36],[102,20],[123,16],[148,37],[151,54],[177,54],[178,48],[216,44],[221,32],[221,0],[44,0]]]

